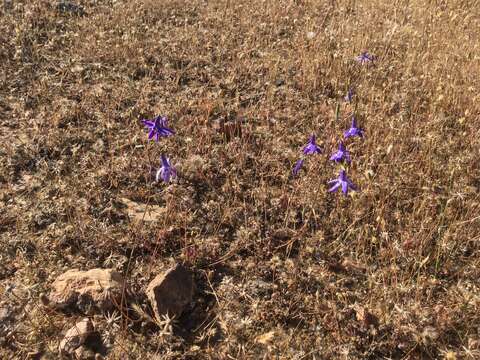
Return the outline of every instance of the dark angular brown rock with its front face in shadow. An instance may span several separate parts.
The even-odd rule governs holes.
[[[147,296],[158,319],[161,315],[179,317],[193,297],[192,274],[182,265],[158,275],[147,287]]]

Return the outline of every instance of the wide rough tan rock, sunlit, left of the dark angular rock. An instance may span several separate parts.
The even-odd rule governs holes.
[[[112,269],[68,270],[52,284],[50,301],[55,307],[77,306],[88,312],[92,307],[111,309],[124,290],[122,275]]]

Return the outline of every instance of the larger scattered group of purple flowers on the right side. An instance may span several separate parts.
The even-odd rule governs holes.
[[[359,56],[355,58],[355,60],[362,65],[367,63],[372,63],[374,59],[375,57],[366,51],[362,52]],[[353,101],[353,96],[354,96],[354,91],[351,88],[349,88],[344,100],[348,103],[351,103]],[[364,136],[364,130],[358,126],[355,115],[353,115],[350,128],[344,131],[343,137],[345,138],[345,140],[347,140],[349,138],[354,138],[354,137],[363,138],[363,136]],[[316,143],[315,135],[312,135],[307,145],[305,145],[305,147],[303,148],[303,154],[311,155],[311,154],[320,154],[320,153],[321,153],[321,149]],[[330,180],[328,182],[328,184],[331,185],[328,191],[335,192],[338,189],[341,189],[344,195],[347,195],[349,190],[357,191],[358,190],[357,186],[347,177],[346,166],[350,165],[350,163],[352,162],[352,159],[350,157],[350,152],[347,150],[347,147],[345,146],[345,143],[343,141],[339,143],[338,150],[335,151],[330,156],[330,160],[335,163],[341,164],[342,168],[340,170],[338,178]],[[303,158],[297,160],[292,171],[294,176],[298,175],[298,173],[302,169],[304,161],[305,159]]]

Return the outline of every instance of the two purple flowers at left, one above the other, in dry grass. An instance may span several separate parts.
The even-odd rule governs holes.
[[[169,137],[175,134],[175,131],[168,127],[166,116],[155,116],[153,119],[143,119],[143,125],[148,129],[148,139],[154,139],[156,142],[162,137]],[[164,154],[160,157],[162,166],[158,169],[155,180],[168,183],[171,179],[177,177],[177,170],[170,163],[170,159]]]

